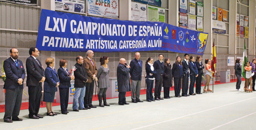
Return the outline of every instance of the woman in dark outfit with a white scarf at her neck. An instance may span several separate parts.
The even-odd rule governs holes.
[[[148,102],[155,101],[153,97],[153,85],[155,80],[155,74],[157,73],[153,66],[153,58],[148,58],[145,64],[146,68],[146,100]]]

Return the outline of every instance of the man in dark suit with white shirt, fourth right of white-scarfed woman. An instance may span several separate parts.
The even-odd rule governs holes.
[[[183,76],[182,76],[182,96],[189,96],[187,94],[188,91],[188,70],[189,70],[189,55],[184,55],[184,60],[182,61],[182,70],[183,70]]]

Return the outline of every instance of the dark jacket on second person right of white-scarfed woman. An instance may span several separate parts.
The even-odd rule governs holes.
[[[163,73],[163,87],[172,87],[173,86],[173,73],[172,73],[172,65],[167,64],[164,65],[164,73]]]

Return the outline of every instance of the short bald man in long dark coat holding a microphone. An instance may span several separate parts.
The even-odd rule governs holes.
[[[130,91],[130,65],[126,66],[126,60],[121,58],[117,66],[118,105],[129,105],[126,102],[125,94]]]

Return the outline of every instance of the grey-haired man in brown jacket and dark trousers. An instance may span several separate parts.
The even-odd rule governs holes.
[[[92,105],[94,80],[97,75],[96,62],[92,59],[93,56],[93,51],[88,50],[87,58],[85,58],[83,62],[88,77],[88,82],[86,83],[86,96],[84,96],[84,107],[87,109],[96,108],[96,106]]]

